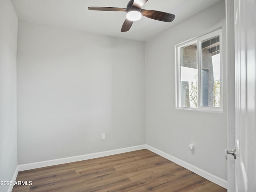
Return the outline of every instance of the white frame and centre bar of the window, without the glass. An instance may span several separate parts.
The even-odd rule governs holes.
[[[201,80],[201,65],[202,65],[202,42],[213,38],[215,36],[220,37],[220,107],[209,107],[209,106],[202,106],[202,95],[201,95],[201,88],[202,88],[202,80]],[[197,68],[198,68],[198,108],[190,108],[190,107],[182,107],[181,106],[181,51],[180,49],[188,46],[190,44],[196,43],[197,46]],[[198,110],[198,111],[209,111],[209,112],[223,112],[223,59],[222,59],[222,29],[215,30],[214,32],[210,32],[208,34],[204,34],[202,36],[198,36],[196,38],[192,38],[190,40],[186,40],[180,44],[175,46],[175,67],[176,67],[176,108],[177,109],[184,109],[184,110]]]

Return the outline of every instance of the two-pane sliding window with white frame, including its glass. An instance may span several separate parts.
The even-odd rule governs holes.
[[[222,110],[221,30],[176,45],[177,107]]]

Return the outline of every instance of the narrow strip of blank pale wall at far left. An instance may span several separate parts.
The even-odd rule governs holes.
[[[18,19],[10,0],[0,1],[0,181],[17,167],[16,51]],[[0,186],[5,192],[9,186]]]

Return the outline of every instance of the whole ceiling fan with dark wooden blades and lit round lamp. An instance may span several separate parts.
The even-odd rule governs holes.
[[[88,7],[88,10],[97,10],[97,11],[125,11],[126,12],[126,20],[121,28],[121,32],[126,32],[130,30],[134,21],[138,21],[142,18],[142,16],[148,17],[150,19],[164,21],[164,22],[172,22],[175,18],[174,14],[165,13],[161,11],[155,10],[145,10],[141,7],[148,0],[130,0],[127,4],[127,8],[117,8],[117,7]]]

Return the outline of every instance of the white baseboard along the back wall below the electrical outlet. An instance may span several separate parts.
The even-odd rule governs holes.
[[[80,155],[80,156],[73,156],[73,157],[67,157],[67,158],[61,158],[61,159],[54,159],[54,160],[48,160],[48,161],[41,161],[41,162],[35,162],[35,163],[29,163],[29,164],[22,164],[22,165],[18,166],[18,170],[24,171],[24,170],[36,169],[36,168],[41,168],[41,167],[46,167],[46,166],[59,165],[59,164],[64,164],[64,163],[71,163],[71,162],[76,162],[76,161],[94,159],[94,158],[115,155],[115,154],[130,152],[130,151],[136,151],[136,150],[141,150],[141,149],[145,149],[145,145],[132,146],[132,147],[121,148],[121,149],[116,149],[116,150],[109,150],[109,151],[104,151],[104,152],[98,152],[98,153],[92,153],[92,154],[86,154],[86,155]]]

